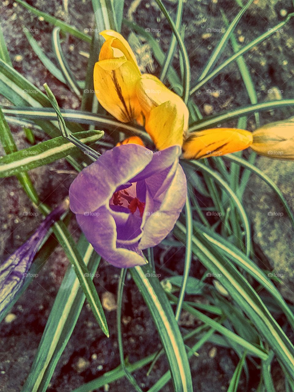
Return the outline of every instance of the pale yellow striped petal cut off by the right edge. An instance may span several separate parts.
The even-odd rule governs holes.
[[[294,122],[270,123],[256,129],[250,148],[268,158],[294,160]]]

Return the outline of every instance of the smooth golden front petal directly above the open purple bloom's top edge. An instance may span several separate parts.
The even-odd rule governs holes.
[[[158,150],[176,144],[182,146],[183,127],[184,116],[177,112],[176,105],[171,101],[151,109],[145,121],[145,129]]]

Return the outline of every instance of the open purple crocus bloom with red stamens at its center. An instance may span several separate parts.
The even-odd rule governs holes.
[[[83,169],[69,189],[70,208],[87,240],[116,267],[143,265],[142,250],[171,232],[186,200],[180,147],[152,152],[126,144]]]

